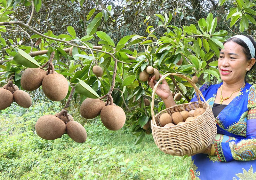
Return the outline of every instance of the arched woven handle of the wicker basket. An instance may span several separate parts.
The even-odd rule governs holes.
[[[164,74],[164,75],[160,78],[160,80],[155,84],[155,87],[154,87],[153,92],[152,92],[151,117],[152,117],[153,123],[154,123],[155,125],[156,125],[156,120],[155,120],[155,113],[154,113],[154,100],[155,100],[156,88],[158,87],[158,85],[160,84],[160,82],[162,82],[162,81],[163,81],[167,76],[169,76],[169,75],[175,75],[175,76],[178,76],[178,77],[181,77],[181,78],[184,78],[184,79],[188,80],[188,82],[192,85],[192,87],[193,87],[193,88],[195,89],[195,91],[196,91],[196,98],[197,98],[197,101],[198,101],[199,103],[202,103],[202,102],[201,102],[201,99],[200,99],[200,96],[201,96],[201,97],[203,98],[204,102],[206,102],[205,99],[204,99],[204,96],[203,96],[202,92],[197,88],[196,84],[195,84],[194,82],[192,82],[192,80],[191,80],[189,77],[187,77],[187,76],[185,76],[185,75],[183,75],[183,74],[177,74],[177,73],[167,73],[167,74]]]

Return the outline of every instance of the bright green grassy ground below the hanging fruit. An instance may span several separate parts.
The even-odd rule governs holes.
[[[0,179],[186,179],[188,175],[190,158],[164,154],[152,135],[141,149],[133,145],[136,137],[128,127],[110,131],[98,118],[85,123],[88,137],[83,144],[67,134],[44,140],[35,132],[36,120],[44,112],[38,109],[21,117],[0,115]],[[78,114],[72,114],[75,121],[84,121]]]

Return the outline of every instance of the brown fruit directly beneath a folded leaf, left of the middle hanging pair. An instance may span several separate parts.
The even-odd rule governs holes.
[[[80,114],[86,119],[92,119],[100,115],[103,107],[105,103],[101,99],[86,98],[80,106]]]

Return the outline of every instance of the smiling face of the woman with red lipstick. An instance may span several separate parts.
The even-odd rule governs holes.
[[[218,68],[223,82],[234,84],[244,80],[248,60],[239,44],[228,41],[220,51]]]

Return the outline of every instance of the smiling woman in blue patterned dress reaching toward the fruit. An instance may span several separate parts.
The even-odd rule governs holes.
[[[190,179],[256,179],[256,84],[244,82],[255,64],[255,49],[250,36],[229,38],[218,59],[223,82],[200,88],[216,118],[217,135],[208,148],[192,156]],[[148,83],[153,89],[155,77]],[[166,107],[175,105],[165,80],[156,94]]]

